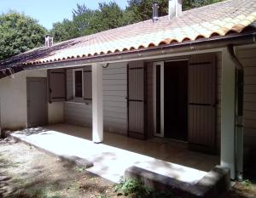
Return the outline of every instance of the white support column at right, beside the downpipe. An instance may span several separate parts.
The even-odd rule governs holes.
[[[235,178],[235,119],[236,119],[236,71],[230,54],[222,53],[221,83],[221,166],[230,168],[230,177]]]

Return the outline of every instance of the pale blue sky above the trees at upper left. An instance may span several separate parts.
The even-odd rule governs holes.
[[[77,3],[85,4],[88,8],[97,8],[100,2],[110,2],[110,0],[0,0],[0,13],[6,13],[10,9],[22,12],[38,20],[47,29],[52,24],[64,18],[72,18],[72,10]],[[126,0],[115,0],[121,8],[127,5]]]

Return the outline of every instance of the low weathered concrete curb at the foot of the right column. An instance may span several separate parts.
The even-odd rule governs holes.
[[[214,167],[204,178],[201,178],[197,184],[185,183],[136,166],[125,170],[125,179],[128,178],[142,180],[148,188],[172,191],[174,195],[183,198],[217,198],[230,189],[230,170],[218,166]]]

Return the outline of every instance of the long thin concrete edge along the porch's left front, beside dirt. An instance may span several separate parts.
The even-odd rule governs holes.
[[[12,135],[12,133],[8,134],[8,139],[9,140],[13,140],[15,141],[15,143],[17,142],[23,142],[29,146],[34,146],[35,148],[37,148],[40,151],[43,151],[44,153],[48,154],[49,156],[55,156],[58,157],[61,161],[66,161],[68,163],[70,163],[71,165],[77,166],[77,167],[85,167],[85,168],[90,168],[93,167],[94,164],[91,161],[88,161],[84,158],[80,158],[79,156],[60,156],[57,155],[49,150],[45,150],[35,144],[29,143],[28,141],[24,140],[24,139],[20,139],[15,137],[14,135]]]

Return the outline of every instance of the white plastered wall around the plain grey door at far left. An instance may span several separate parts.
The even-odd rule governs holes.
[[[47,77],[47,71],[21,71],[15,78],[0,80],[1,127],[15,130],[27,127],[26,77]],[[55,104],[49,105],[49,122],[61,121],[61,113],[55,115]]]

